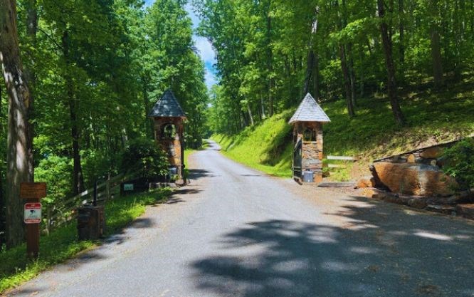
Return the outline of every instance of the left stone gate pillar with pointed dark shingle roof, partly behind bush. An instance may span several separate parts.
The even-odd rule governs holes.
[[[183,178],[184,171],[184,120],[186,114],[172,90],[164,92],[154,105],[149,117],[154,119],[154,140],[167,152],[171,174]]]

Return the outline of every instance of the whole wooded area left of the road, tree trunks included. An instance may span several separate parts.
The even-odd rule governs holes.
[[[209,96],[185,2],[0,0],[0,247],[23,242],[22,218],[6,217],[23,211],[21,182],[46,182],[55,205],[124,173],[165,90],[186,111],[186,145],[201,146]]]

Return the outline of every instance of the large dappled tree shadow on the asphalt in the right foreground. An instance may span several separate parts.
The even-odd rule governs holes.
[[[474,296],[472,224],[370,202],[329,215],[348,223],[234,229],[191,264],[196,287],[235,297]]]

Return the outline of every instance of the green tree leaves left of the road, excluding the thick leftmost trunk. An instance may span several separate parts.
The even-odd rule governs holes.
[[[85,187],[121,170],[141,170],[144,177],[162,173],[167,162],[149,143],[143,143],[146,152],[124,158],[139,165],[122,167],[120,153],[129,142],[134,146],[142,137],[153,138],[147,115],[168,88],[186,111],[186,145],[201,145],[208,95],[204,63],[195,52],[191,19],[184,9],[186,1],[158,0],[151,6],[144,6],[142,0],[16,3],[21,59],[34,101],[29,121],[35,135],[35,179],[48,183],[45,202],[54,204],[73,193],[74,153],[80,155]],[[39,20],[34,36],[27,26],[30,10],[36,11]],[[8,98],[0,76],[3,191],[1,185],[8,182]],[[73,149],[73,140],[78,141],[78,148]],[[130,153],[130,147],[127,150]],[[5,229],[1,203],[3,199],[0,244]]]

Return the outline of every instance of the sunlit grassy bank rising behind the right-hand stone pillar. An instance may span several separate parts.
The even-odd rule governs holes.
[[[421,88],[418,86],[418,88]],[[407,125],[396,125],[386,98],[357,100],[357,116],[347,116],[344,100],[322,103],[331,119],[324,126],[325,155],[357,156],[347,170],[332,172],[332,179],[347,180],[367,174],[372,160],[472,135],[474,132],[474,78],[435,93],[405,93],[401,108]],[[224,155],[278,177],[290,177],[291,127],[295,110],[285,110],[238,135],[214,135]]]

